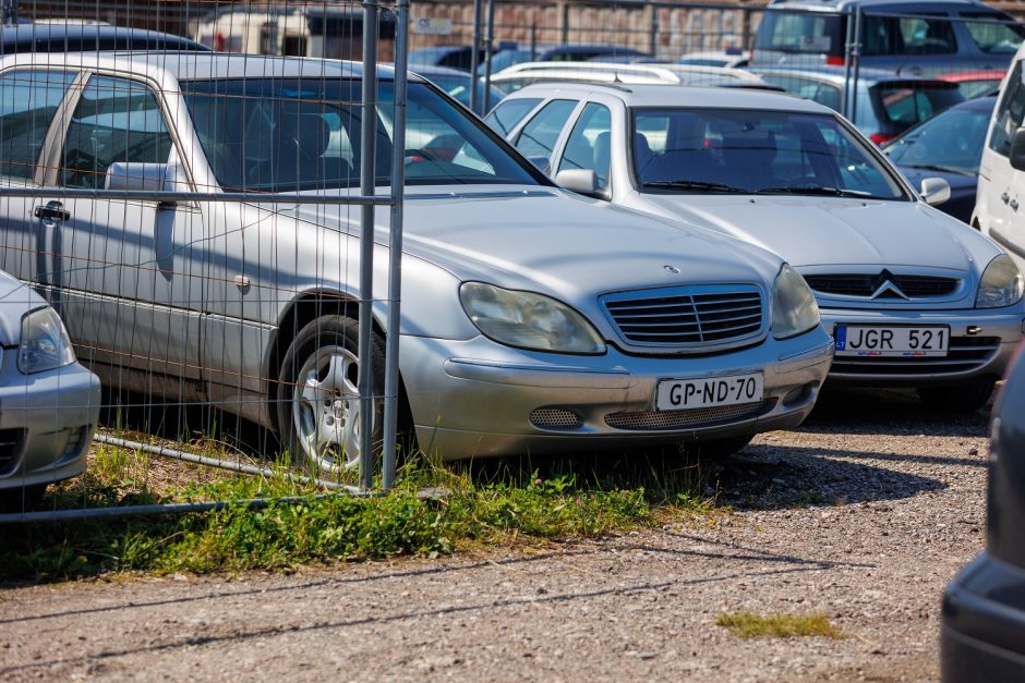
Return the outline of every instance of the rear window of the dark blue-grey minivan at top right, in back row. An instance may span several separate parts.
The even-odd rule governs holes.
[[[845,31],[840,14],[770,10],[758,26],[755,49],[841,56]]]

